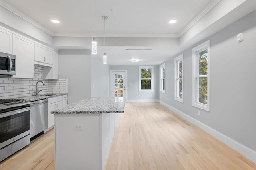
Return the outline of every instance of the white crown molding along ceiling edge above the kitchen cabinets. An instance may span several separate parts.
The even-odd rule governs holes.
[[[0,5],[3,6],[4,8],[6,8],[7,10],[10,10],[11,12],[13,12],[14,14],[16,14],[17,16],[19,16],[20,18],[28,21],[29,23],[31,23],[32,25],[38,27],[39,29],[41,29],[42,31],[50,34],[50,35],[54,35],[54,33],[48,29],[47,27],[45,27],[44,25],[38,23],[36,20],[32,19],[30,16],[24,14],[24,12],[18,10],[17,8],[15,8],[14,6],[11,6],[10,4],[8,4],[8,2],[5,1],[0,1]]]

